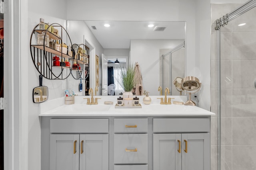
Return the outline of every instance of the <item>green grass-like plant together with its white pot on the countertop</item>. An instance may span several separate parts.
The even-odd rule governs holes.
[[[133,94],[132,89],[136,85],[135,67],[129,65],[126,67],[121,67],[121,74],[116,78],[117,82],[124,89],[123,99],[124,106],[132,106],[133,104]]]

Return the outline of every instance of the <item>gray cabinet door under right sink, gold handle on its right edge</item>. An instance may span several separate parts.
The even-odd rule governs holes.
[[[153,134],[153,170],[181,170],[181,134]]]

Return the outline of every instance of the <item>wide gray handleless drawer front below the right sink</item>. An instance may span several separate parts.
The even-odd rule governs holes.
[[[154,132],[209,132],[209,118],[155,118]]]

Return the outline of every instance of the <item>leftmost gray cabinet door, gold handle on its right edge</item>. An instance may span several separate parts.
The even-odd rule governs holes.
[[[79,170],[79,135],[50,135],[50,170]]]

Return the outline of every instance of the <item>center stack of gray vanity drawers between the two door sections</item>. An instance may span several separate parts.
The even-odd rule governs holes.
[[[114,170],[148,170],[148,118],[114,118]]]

